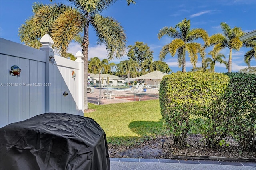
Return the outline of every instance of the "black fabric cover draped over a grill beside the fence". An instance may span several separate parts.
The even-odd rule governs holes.
[[[110,170],[104,130],[93,119],[45,113],[0,128],[1,170]]]

